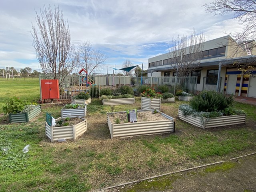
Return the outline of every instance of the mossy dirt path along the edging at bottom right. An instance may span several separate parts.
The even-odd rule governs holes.
[[[105,192],[255,192],[256,154]]]

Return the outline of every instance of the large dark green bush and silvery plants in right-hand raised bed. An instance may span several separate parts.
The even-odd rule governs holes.
[[[238,116],[238,120],[233,118],[223,118],[223,124],[216,119],[216,123],[211,126],[223,126],[227,125],[227,122],[229,122],[229,124],[236,124],[235,122],[238,122],[237,124],[244,123],[245,112],[243,110],[234,109],[232,107],[233,103],[233,95],[227,97],[224,94],[215,91],[202,91],[190,101],[190,105],[182,104],[179,106],[179,116],[185,121],[186,116],[188,116],[188,122],[193,122],[193,119],[189,118],[189,116],[199,118],[203,128],[207,122],[213,120],[212,118],[222,116],[242,115]],[[180,112],[182,114],[180,114]]]

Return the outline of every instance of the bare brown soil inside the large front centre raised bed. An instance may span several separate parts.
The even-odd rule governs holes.
[[[116,119],[120,119],[120,123],[126,123],[127,122],[127,114],[126,113],[114,113],[114,116],[112,114],[109,114],[110,121],[113,124],[116,124]],[[162,116],[162,114],[152,111],[143,111],[143,112],[137,112],[137,122],[146,122],[146,121],[160,121],[160,120],[167,120],[166,117]]]

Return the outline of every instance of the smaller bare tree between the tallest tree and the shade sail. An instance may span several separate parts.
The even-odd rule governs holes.
[[[101,50],[94,50],[90,41],[78,44],[77,54],[79,66],[84,68],[89,75],[100,70],[107,60],[106,54]]]

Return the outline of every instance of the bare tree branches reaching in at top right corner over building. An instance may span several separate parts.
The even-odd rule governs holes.
[[[241,32],[229,33],[236,42],[230,46],[233,48],[232,56],[237,54],[241,56],[256,47],[256,1],[254,0],[215,0],[210,4],[204,4],[206,12],[214,13],[214,15],[233,14],[238,23],[243,26]],[[256,59],[234,62],[234,66],[240,68],[244,74],[250,73],[247,68],[255,65]]]

